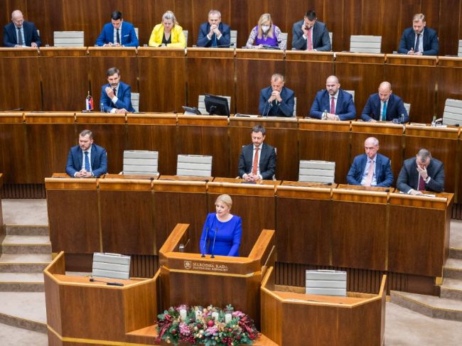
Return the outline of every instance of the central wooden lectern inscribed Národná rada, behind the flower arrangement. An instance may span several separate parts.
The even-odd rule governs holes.
[[[259,326],[259,290],[266,269],[274,264],[274,231],[264,229],[247,257],[178,252],[189,225],[178,224],[160,250],[163,308],[188,305],[224,308],[232,304]]]

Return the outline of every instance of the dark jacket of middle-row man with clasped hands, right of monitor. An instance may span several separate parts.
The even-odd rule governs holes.
[[[294,115],[294,91],[290,90],[288,87],[282,87],[280,93],[282,102],[279,103],[274,100],[269,104],[268,99],[271,97],[272,92],[272,87],[265,87],[260,92],[260,102],[258,105],[259,114],[269,117],[292,117]]]

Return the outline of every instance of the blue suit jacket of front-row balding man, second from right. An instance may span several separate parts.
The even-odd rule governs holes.
[[[381,188],[390,188],[393,183],[392,165],[390,158],[377,153],[375,161],[375,178],[377,185]],[[366,168],[367,155],[365,153],[358,155],[353,160],[350,171],[348,171],[347,181],[350,185],[361,185],[362,174]]]

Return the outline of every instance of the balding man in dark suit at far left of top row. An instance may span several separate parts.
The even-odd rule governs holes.
[[[34,23],[24,21],[19,10],[11,13],[11,23],[4,26],[4,47],[40,47],[42,44]]]

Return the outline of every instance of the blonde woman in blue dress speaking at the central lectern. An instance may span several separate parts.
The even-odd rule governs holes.
[[[210,212],[200,237],[200,252],[221,256],[239,256],[242,237],[242,221],[230,214],[232,199],[220,195],[215,201],[216,212]],[[214,242],[215,239],[215,242]]]

